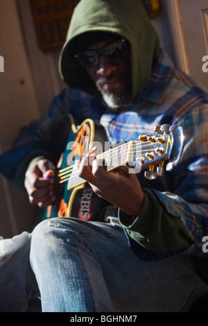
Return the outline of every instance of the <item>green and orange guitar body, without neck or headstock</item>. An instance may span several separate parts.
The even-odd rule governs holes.
[[[55,205],[45,209],[42,219],[73,216],[86,221],[98,221],[98,211],[105,205],[105,200],[94,194],[85,180],[80,180],[76,187],[70,187],[69,182],[73,180],[73,169],[76,168],[75,160],[82,160],[83,156],[97,142],[104,146],[105,129],[99,123],[94,123],[92,119],[86,119],[79,128],[76,128],[71,115],[69,115],[69,126],[71,131],[67,146],[58,162],[58,169],[59,171],[69,171],[71,177],[60,184]],[[64,173],[66,174],[66,172]]]

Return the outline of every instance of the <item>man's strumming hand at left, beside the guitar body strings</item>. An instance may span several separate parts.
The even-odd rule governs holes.
[[[55,166],[49,160],[38,160],[26,171],[24,185],[31,204],[39,207],[52,205],[55,201]]]

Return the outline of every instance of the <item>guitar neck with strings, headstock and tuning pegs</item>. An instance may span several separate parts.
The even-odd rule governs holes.
[[[176,146],[173,146],[176,143]],[[155,164],[163,164],[164,161],[173,157],[173,165],[180,160],[182,153],[183,134],[182,128],[176,128],[170,134],[140,135],[137,141],[128,141],[120,146],[110,148],[101,154],[98,159],[105,161],[107,171],[116,169],[121,165],[128,164],[139,173],[141,169],[149,168],[153,172]],[[60,170],[60,183],[69,180],[67,189],[79,186],[86,181],[78,176],[76,165],[68,166]]]

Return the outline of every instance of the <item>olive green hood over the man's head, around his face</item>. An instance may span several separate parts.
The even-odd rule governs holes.
[[[141,1],[81,0],[73,12],[60,55],[60,74],[70,87],[100,96],[85,67],[74,58],[79,37],[86,41],[95,32],[120,35],[130,43],[133,99],[148,84],[159,56],[159,39]]]

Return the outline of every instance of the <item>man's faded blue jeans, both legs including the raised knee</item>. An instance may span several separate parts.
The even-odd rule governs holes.
[[[120,225],[77,218],[6,240],[0,275],[1,311],[25,311],[38,295],[42,311],[189,311],[208,292],[189,256],[142,261]]]

